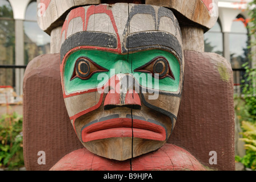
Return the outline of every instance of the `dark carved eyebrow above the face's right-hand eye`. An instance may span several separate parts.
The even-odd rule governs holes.
[[[148,31],[131,34],[127,37],[126,48],[129,51],[140,51],[149,48],[161,48],[174,51],[182,60],[182,47],[174,35],[162,31]]]

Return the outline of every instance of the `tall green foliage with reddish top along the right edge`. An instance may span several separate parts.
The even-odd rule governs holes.
[[[250,22],[247,25],[251,37],[256,38],[256,0],[249,3]],[[250,42],[249,48],[256,46],[256,41]],[[235,100],[240,102],[235,111],[241,121],[242,137],[245,142],[246,155],[242,158],[235,157],[237,162],[241,162],[245,167],[256,169],[256,69],[250,67],[250,61],[255,52],[249,53],[248,63],[243,64],[246,70],[245,80],[242,81],[242,96]],[[241,105],[242,102],[242,105]]]

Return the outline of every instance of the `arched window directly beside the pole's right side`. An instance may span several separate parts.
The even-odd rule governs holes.
[[[205,33],[205,52],[215,52],[223,56],[223,35],[219,20]]]

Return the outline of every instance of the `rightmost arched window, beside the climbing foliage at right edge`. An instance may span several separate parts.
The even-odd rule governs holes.
[[[249,35],[247,30],[247,20],[238,15],[232,23],[229,37],[230,63],[234,73],[234,92],[241,93],[241,81],[245,80],[245,70],[243,64],[249,61]]]

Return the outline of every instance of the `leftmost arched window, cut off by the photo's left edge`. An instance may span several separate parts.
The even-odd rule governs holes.
[[[15,64],[15,22],[7,0],[0,0],[0,65]],[[0,86],[13,85],[13,69],[0,69]]]

